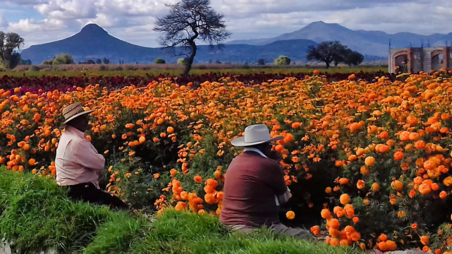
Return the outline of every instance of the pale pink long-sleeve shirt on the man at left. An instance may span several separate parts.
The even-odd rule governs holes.
[[[86,139],[85,134],[67,126],[56,150],[56,183],[60,186],[93,183],[98,186],[98,173],[105,159]]]

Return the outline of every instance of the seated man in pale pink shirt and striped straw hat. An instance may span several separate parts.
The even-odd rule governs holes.
[[[105,159],[86,139],[88,114],[79,103],[63,109],[65,128],[56,150],[56,183],[67,186],[73,200],[125,208],[127,205],[118,197],[111,196],[99,188],[98,175],[105,166]]]

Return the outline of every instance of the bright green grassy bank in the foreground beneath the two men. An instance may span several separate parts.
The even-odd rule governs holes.
[[[13,252],[39,253],[360,253],[267,229],[242,234],[216,217],[167,210],[146,215],[73,203],[52,179],[0,169],[0,233]]]

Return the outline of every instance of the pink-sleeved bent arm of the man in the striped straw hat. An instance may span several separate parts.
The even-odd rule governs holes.
[[[89,141],[77,144],[76,157],[80,165],[95,172],[100,172],[105,167],[105,158],[97,153]]]

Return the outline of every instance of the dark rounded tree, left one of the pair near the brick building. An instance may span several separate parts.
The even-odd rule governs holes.
[[[317,47],[311,45],[307,50],[306,59],[325,62],[326,68],[329,68],[332,61],[342,62],[341,56],[346,48],[338,41],[322,42]]]

